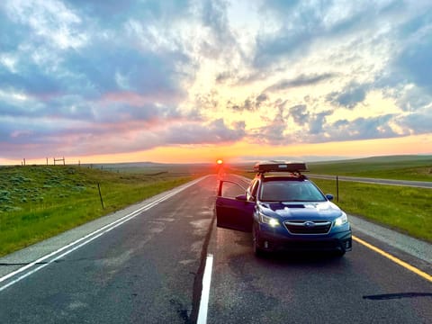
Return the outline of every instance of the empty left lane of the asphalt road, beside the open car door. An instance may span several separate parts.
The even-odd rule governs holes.
[[[6,287],[0,291],[0,323],[193,322],[201,293],[199,284],[194,289],[195,277],[201,283],[216,183],[207,177],[150,204]]]

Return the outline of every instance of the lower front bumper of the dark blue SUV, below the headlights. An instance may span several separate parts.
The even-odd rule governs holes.
[[[261,226],[261,229],[260,229]],[[329,251],[345,253],[352,249],[351,229],[326,235],[290,235],[257,225],[257,247],[265,251]]]

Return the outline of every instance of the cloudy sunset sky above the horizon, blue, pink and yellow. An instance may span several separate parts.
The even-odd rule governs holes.
[[[432,154],[432,1],[3,0],[0,164]]]

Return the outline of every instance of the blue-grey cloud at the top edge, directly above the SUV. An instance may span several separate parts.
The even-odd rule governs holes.
[[[266,68],[278,64],[281,59],[304,58],[311,54],[322,40],[338,38],[364,31],[374,25],[379,4],[316,5],[314,2],[266,2],[264,10],[275,19],[275,29],[257,36],[254,66]]]

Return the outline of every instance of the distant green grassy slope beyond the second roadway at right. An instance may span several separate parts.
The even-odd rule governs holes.
[[[432,181],[432,156],[368,157],[308,163],[311,174]]]

